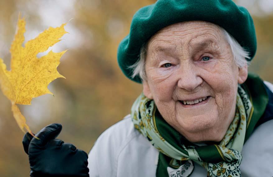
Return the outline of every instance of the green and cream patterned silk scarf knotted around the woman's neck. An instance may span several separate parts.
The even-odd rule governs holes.
[[[240,176],[241,151],[253,106],[241,86],[236,99],[235,117],[223,140],[217,145],[198,146],[167,124],[154,101],[142,93],[132,106],[131,117],[135,128],[160,152],[157,176],[190,176],[193,161],[207,169],[207,176]]]

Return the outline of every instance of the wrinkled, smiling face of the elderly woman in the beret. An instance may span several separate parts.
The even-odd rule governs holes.
[[[191,142],[221,141],[233,120],[238,68],[219,27],[202,21],[176,23],[148,41],[143,81],[162,117]]]

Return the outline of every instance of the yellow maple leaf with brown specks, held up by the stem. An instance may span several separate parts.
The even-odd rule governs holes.
[[[59,38],[67,32],[64,30],[66,23],[56,28],[49,27],[35,39],[26,42],[25,47],[23,47],[25,25],[25,19],[19,15],[17,33],[10,48],[10,71],[7,70],[0,58],[0,88],[12,103],[13,116],[18,126],[23,132],[26,129],[31,133],[26,124],[26,118],[21,114],[16,104],[29,105],[32,98],[47,93],[53,94],[47,89],[48,84],[54,79],[65,78],[57,71],[60,58],[65,51],[59,53],[50,51],[40,59],[37,58],[37,54],[46,51],[50,46],[59,42]]]

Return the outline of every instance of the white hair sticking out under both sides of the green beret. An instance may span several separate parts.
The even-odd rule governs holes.
[[[236,41],[236,39],[231,36],[224,28],[218,26],[220,30],[223,32],[226,40],[228,41],[228,44],[230,45],[233,59],[235,64],[242,68],[244,66],[250,65],[250,61],[247,59],[250,59],[249,52],[244,50],[244,48]],[[140,49],[139,59],[137,62],[134,63],[134,65],[129,66],[129,69],[133,69],[133,74],[131,75],[132,78],[135,76],[139,76],[141,80],[146,80],[146,72],[145,72],[145,58],[147,54],[147,44],[148,42],[144,43]]]

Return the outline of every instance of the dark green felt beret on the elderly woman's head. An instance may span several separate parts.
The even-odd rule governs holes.
[[[206,21],[222,26],[250,53],[256,53],[257,43],[253,20],[246,8],[231,0],[158,0],[142,7],[133,17],[130,33],[118,47],[117,59],[129,79],[141,83],[139,76],[131,77],[133,65],[142,45],[160,29],[177,22]]]

